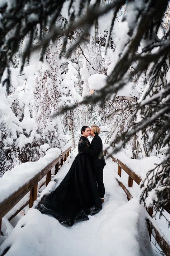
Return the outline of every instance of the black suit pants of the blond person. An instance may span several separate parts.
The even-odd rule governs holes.
[[[105,194],[105,188],[103,183],[103,169],[104,169],[104,166],[94,167],[94,175],[95,175],[96,182],[98,184],[98,193],[99,193],[99,197],[101,198],[103,198]]]

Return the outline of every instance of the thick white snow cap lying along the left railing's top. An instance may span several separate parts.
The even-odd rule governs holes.
[[[45,166],[55,160],[61,154],[59,148],[50,148],[44,157],[40,157],[37,162],[22,163],[14,167],[11,171],[5,172],[0,179],[0,202],[12,195],[20,187],[39,173]],[[7,188],[10,188],[7,189]]]

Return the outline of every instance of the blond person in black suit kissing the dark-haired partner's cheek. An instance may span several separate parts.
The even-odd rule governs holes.
[[[99,137],[100,128],[97,125],[91,125],[90,135],[93,137],[91,141],[91,146],[89,148],[84,148],[83,152],[86,154],[93,155],[93,170],[98,184],[98,193],[101,198],[102,204],[104,203],[105,188],[103,183],[103,169],[106,165],[103,156],[103,144],[101,138]]]

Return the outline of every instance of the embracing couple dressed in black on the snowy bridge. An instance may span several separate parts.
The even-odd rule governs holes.
[[[38,205],[39,211],[54,216],[60,223],[72,226],[75,220],[88,220],[89,214],[93,215],[101,210],[105,193],[105,160],[99,133],[97,125],[81,128],[79,154],[55,191]],[[88,140],[90,135],[93,136],[91,144]]]

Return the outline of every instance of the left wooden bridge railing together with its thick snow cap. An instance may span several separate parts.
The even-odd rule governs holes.
[[[39,187],[44,184],[46,186],[51,181],[51,170],[55,168],[55,174],[59,170],[59,166],[63,165],[69,156],[71,147],[67,148],[62,154],[59,148],[51,148],[36,162],[27,162],[13,168],[10,172],[6,172],[0,178],[0,234],[2,218],[7,215],[11,220],[26,205],[29,208],[33,206],[33,202],[37,199],[38,182],[42,181]],[[46,179],[43,177],[46,175]],[[30,193],[30,195],[28,195]],[[27,197],[28,195],[28,197]],[[26,198],[22,202],[22,198]],[[21,202],[21,204],[19,204]],[[19,208],[9,215],[9,211],[19,204]]]

